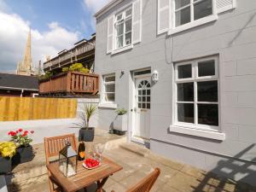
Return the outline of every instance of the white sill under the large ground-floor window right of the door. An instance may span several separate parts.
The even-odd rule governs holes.
[[[181,133],[189,136],[210,138],[210,139],[215,139],[219,141],[225,140],[225,134],[223,132],[217,132],[217,131],[196,130],[193,128],[185,128],[177,125],[171,125],[169,128],[169,131]]]

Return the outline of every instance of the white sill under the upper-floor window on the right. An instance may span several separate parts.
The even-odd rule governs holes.
[[[177,26],[177,28],[170,29],[168,31],[168,35],[172,35],[172,34],[175,34],[177,32],[183,32],[183,31],[188,30],[190,28],[193,28],[195,26],[201,26],[205,23],[212,22],[214,20],[218,20],[218,15],[207,16],[207,17],[202,18],[200,20],[194,20],[194,21],[192,21],[188,24],[185,24],[183,26]]]

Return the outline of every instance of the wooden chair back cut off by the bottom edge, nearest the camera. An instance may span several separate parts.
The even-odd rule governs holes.
[[[149,192],[159,175],[160,169],[155,168],[154,172],[151,172],[147,177],[143,178],[143,180],[128,189],[126,192]],[[112,192],[114,191],[112,190]]]

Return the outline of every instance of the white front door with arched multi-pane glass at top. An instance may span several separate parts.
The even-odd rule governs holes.
[[[132,140],[140,143],[148,142],[150,138],[150,77],[135,79],[135,123],[132,131]]]

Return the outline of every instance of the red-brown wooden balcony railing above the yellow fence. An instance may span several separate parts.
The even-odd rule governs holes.
[[[97,74],[68,72],[61,73],[39,83],[40,94],[66,93],[72,95],[95,95],[99,90]]]

